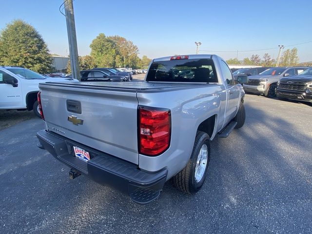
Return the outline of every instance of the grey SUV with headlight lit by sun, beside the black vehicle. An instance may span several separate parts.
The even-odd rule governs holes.
[[[272,67],[259,75],[249,76],[248,84],[244,84],[244,90],[249,93],[264,94],[265,97],[274,98],[277,82],[282,77],[299,74],[307,67]]]

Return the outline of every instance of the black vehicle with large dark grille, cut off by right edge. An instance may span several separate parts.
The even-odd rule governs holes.
[[[312,68],[296,76],[280,78],[277,83],[276,96],[312,103]]]

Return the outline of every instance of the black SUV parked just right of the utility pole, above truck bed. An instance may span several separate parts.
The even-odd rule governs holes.
[[[100,69],[91,69],[80,71],[81,81],[127,81],[125,76],[110,75],[107,72]]]

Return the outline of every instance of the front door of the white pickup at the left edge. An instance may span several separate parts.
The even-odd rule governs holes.
[[[23,106],[23,99],[21,93],[21,85],[18,80],[17,87],[13,87],[12,84],[6,84],[4,80],[6,78],[13,78],[11,75],[0,70],[0,109],[18,109],[26,108]]]

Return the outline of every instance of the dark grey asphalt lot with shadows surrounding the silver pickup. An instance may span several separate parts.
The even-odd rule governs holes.
[[[147,205],[36,147],[37,117],[0,131],[0,233],[312,233],[312,107],[246,95],[247,119],[212,142],[202,190],[166,183]]]

